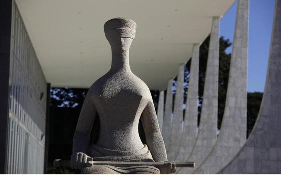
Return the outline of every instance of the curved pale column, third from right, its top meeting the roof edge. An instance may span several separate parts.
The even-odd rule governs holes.
[[[195,161],[196,165],[200,165],[205,160],[217,139],[219,31],[220,17],[213,17],[199,132],[191,155],[186,157],[186,160]],[[194,170],[195,168],[182,168],[179,173],[190,174]]]

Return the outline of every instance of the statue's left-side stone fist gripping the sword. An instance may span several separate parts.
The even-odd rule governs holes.
[[[87,161],[93,161],[92,157],[82,152],[77,152],[71,155],[70,166],[72,169],[83,169],[86,167]]]

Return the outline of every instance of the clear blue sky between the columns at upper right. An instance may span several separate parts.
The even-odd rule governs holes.
[[[248,59],[248,92],[263,92],[275,0],[250,0],[249,10],[249,59]],[[220,36],[233,42],[237,1],[220,21]],[[232,47],[227,49],[227,53]]]

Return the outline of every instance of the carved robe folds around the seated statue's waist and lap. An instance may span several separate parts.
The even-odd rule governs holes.
[[[154,162],[147,145],[135,151],[119,151],[110,150],[107,148],[99,147],[92,144],[88,150],[88,155],[94,161],[132,161],[132,162]],[[93,167],[84,168],[82,174],[136,174],[136,173],[160,174],[158,168],[153,166],[128,166],[128,167],[115,167],[111,165],[94,165]]]

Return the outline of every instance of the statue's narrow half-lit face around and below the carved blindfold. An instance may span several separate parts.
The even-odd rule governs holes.
[[[129,50],[131,43],[133,41],[133,38],[128,37],[121,37],[120,32],[118,31],[112,31],[110,34],[110,37],[108,38],[110,46],[114,50]]]

